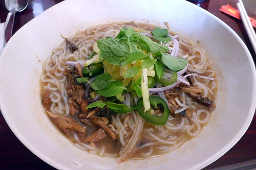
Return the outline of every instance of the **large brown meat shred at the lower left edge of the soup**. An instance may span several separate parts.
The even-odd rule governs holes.
[[[87,133],[87,129],[82,127],[76,120],[56,115],[50,111],[46,111],[52,122],[67,136],[70,137],[70,132],[77,131],[80,133]]]

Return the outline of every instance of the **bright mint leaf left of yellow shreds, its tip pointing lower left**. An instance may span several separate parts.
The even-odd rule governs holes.
[[[111,82],[110,86],[108,88],[104,88],[102,90],[96,91],[98,94],[105,96],[105,97],[111,97],[115,96],[117,94],[121,94],[123,90],[126,88],[123,87],[123,83],[119,80],[114,80]]]

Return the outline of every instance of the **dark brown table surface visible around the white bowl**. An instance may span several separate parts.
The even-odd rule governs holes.
[[[28,7],[23,11],[16,13],[13,33],[24,26],[28,21],[44,12],[48,8],[61,2],[61,0],[29,0]],[[241,20],[233,18],[219,9],[221,6],[229,4],[236,8],[236,0],[210,0],[205,3],[195,3],[210,13],[216,15],[230,26],[247,45],[254,63],[256,55],[244,29]],[[254,8],[256,7],[249,7]],[[8,11],[5,8],[4,0],[0,0],[0,18],[5,22]],[[255,29],[254,29],[255,30]],[[1,113],[1,112],[0,112]],[[32,152],[30,152],[12,133],[0,114],[0,169],[54,169],[45,163]],[[221,158],[211,163],[204,169],[251,169],[256,168],[256,118],[252,122],[239,142],[234,145]]]

